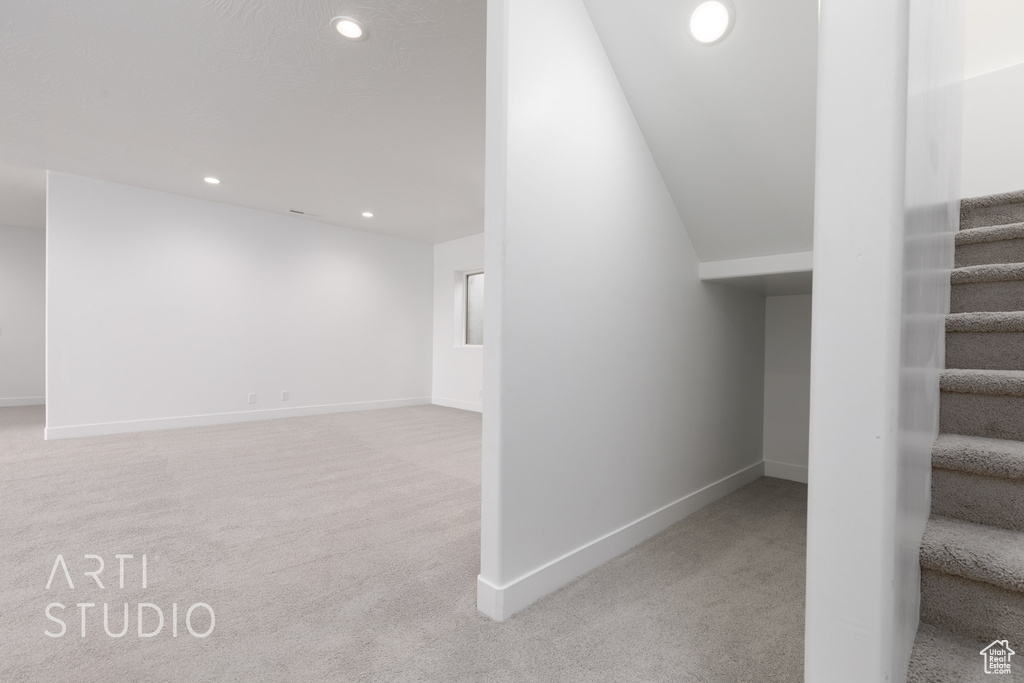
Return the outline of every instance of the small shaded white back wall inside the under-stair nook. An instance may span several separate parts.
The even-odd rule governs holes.
[[[765,299],[767,476],[807,483],[811,410],[811,295]]]

